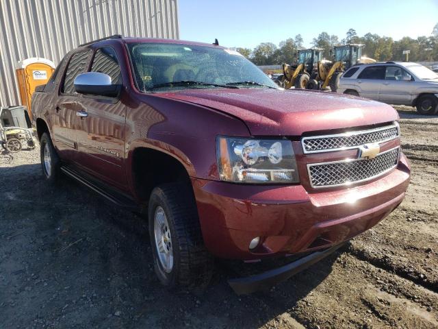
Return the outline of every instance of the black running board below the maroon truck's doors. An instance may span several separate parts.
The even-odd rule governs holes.
[[[81,173],[77,172],[75,169],[67,166],[61,166],[61,170],[70,178],[73,178],[88,188],[91,188],[92,191],[99,193],[99,195],[105,197],[105,199],[113,204],[116,204],[116,206],[131,210],[133,212],[142,212],[142,207],[136,204],[136,202],[134,202],[132,199],[129,199],[120,193],[111,193],[106,191],[110,188],[105,188],[105,186],[101,186],[100,184],[93,182],[90,178],[86,178],[85,175],[81,175]]]

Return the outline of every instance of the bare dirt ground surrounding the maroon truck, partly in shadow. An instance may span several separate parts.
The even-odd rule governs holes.
[[[47,186],[38,151],[0,155],[0,328],[437,328],[438,117],[398,110],[413,169],[400,208],[250,296],[220,262],[204,295],[166,291],[140,217],[70,180]]]

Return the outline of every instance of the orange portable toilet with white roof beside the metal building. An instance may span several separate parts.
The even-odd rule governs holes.
[[[27,107],[30,117],[32,117],[32,94],[36,86],[47,84],[53,71],[55,71],[55,64],[45,58],[27,58],[17,63],[16,78],[21,104]]]

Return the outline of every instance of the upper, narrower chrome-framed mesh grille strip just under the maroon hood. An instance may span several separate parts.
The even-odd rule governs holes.
[[[301,140],[304,153],[319,153],[338,151],[340,149],[354,149],[368,143],[383,143],[400,136],[400,127],[397,123],[371,130],[346,132],[326,136],[304,137]]]

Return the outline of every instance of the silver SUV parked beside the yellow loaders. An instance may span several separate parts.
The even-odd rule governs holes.
[[[352,66],[342,75],[337,93],[416,106],[420,114],[438,112],[438,74],[412,62]]]

